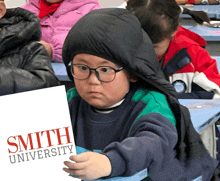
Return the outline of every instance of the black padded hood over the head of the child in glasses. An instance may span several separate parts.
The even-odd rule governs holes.
[[[68,65],[79,53],[112,61],[137,77],[142,86],[175,95],[173,86],[160,68],[150,38],[138,19],[126,9],[94,10],[72,27],[62,53],[71,79]]]

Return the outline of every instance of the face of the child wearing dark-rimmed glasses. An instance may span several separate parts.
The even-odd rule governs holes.
[[[120,68],[111,61],[89,54],[77,54],[72,63],[86,65],[90,68],[99,66],[107,66],[115,70]],[[87,79],[74,78],[79,95],[96,108],[108,108],[118,103],[129,91],[130,81],[134,82],[134,79],[129,78],[129,75],[123,69],[116,73],[115,79],[111,82],[100,81],[94,70],[91,71]]]

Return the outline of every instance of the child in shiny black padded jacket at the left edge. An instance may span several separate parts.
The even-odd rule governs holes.
[[[38,42],[38,17],[0,1],[0,95],[59,85],[50,58]]]

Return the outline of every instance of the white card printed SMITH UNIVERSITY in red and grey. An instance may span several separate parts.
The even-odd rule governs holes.
[[[64,86],[0,96],[0,121],[0,180],[79,180],[62,170],[76,154]]]

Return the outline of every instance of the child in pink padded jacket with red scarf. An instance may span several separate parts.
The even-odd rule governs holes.
[[[29,0],[22,8],[38,15],[41,43],[53,60],[62,62],[63,42],[70,28],[85,14],[101,7],[98,0]]]

